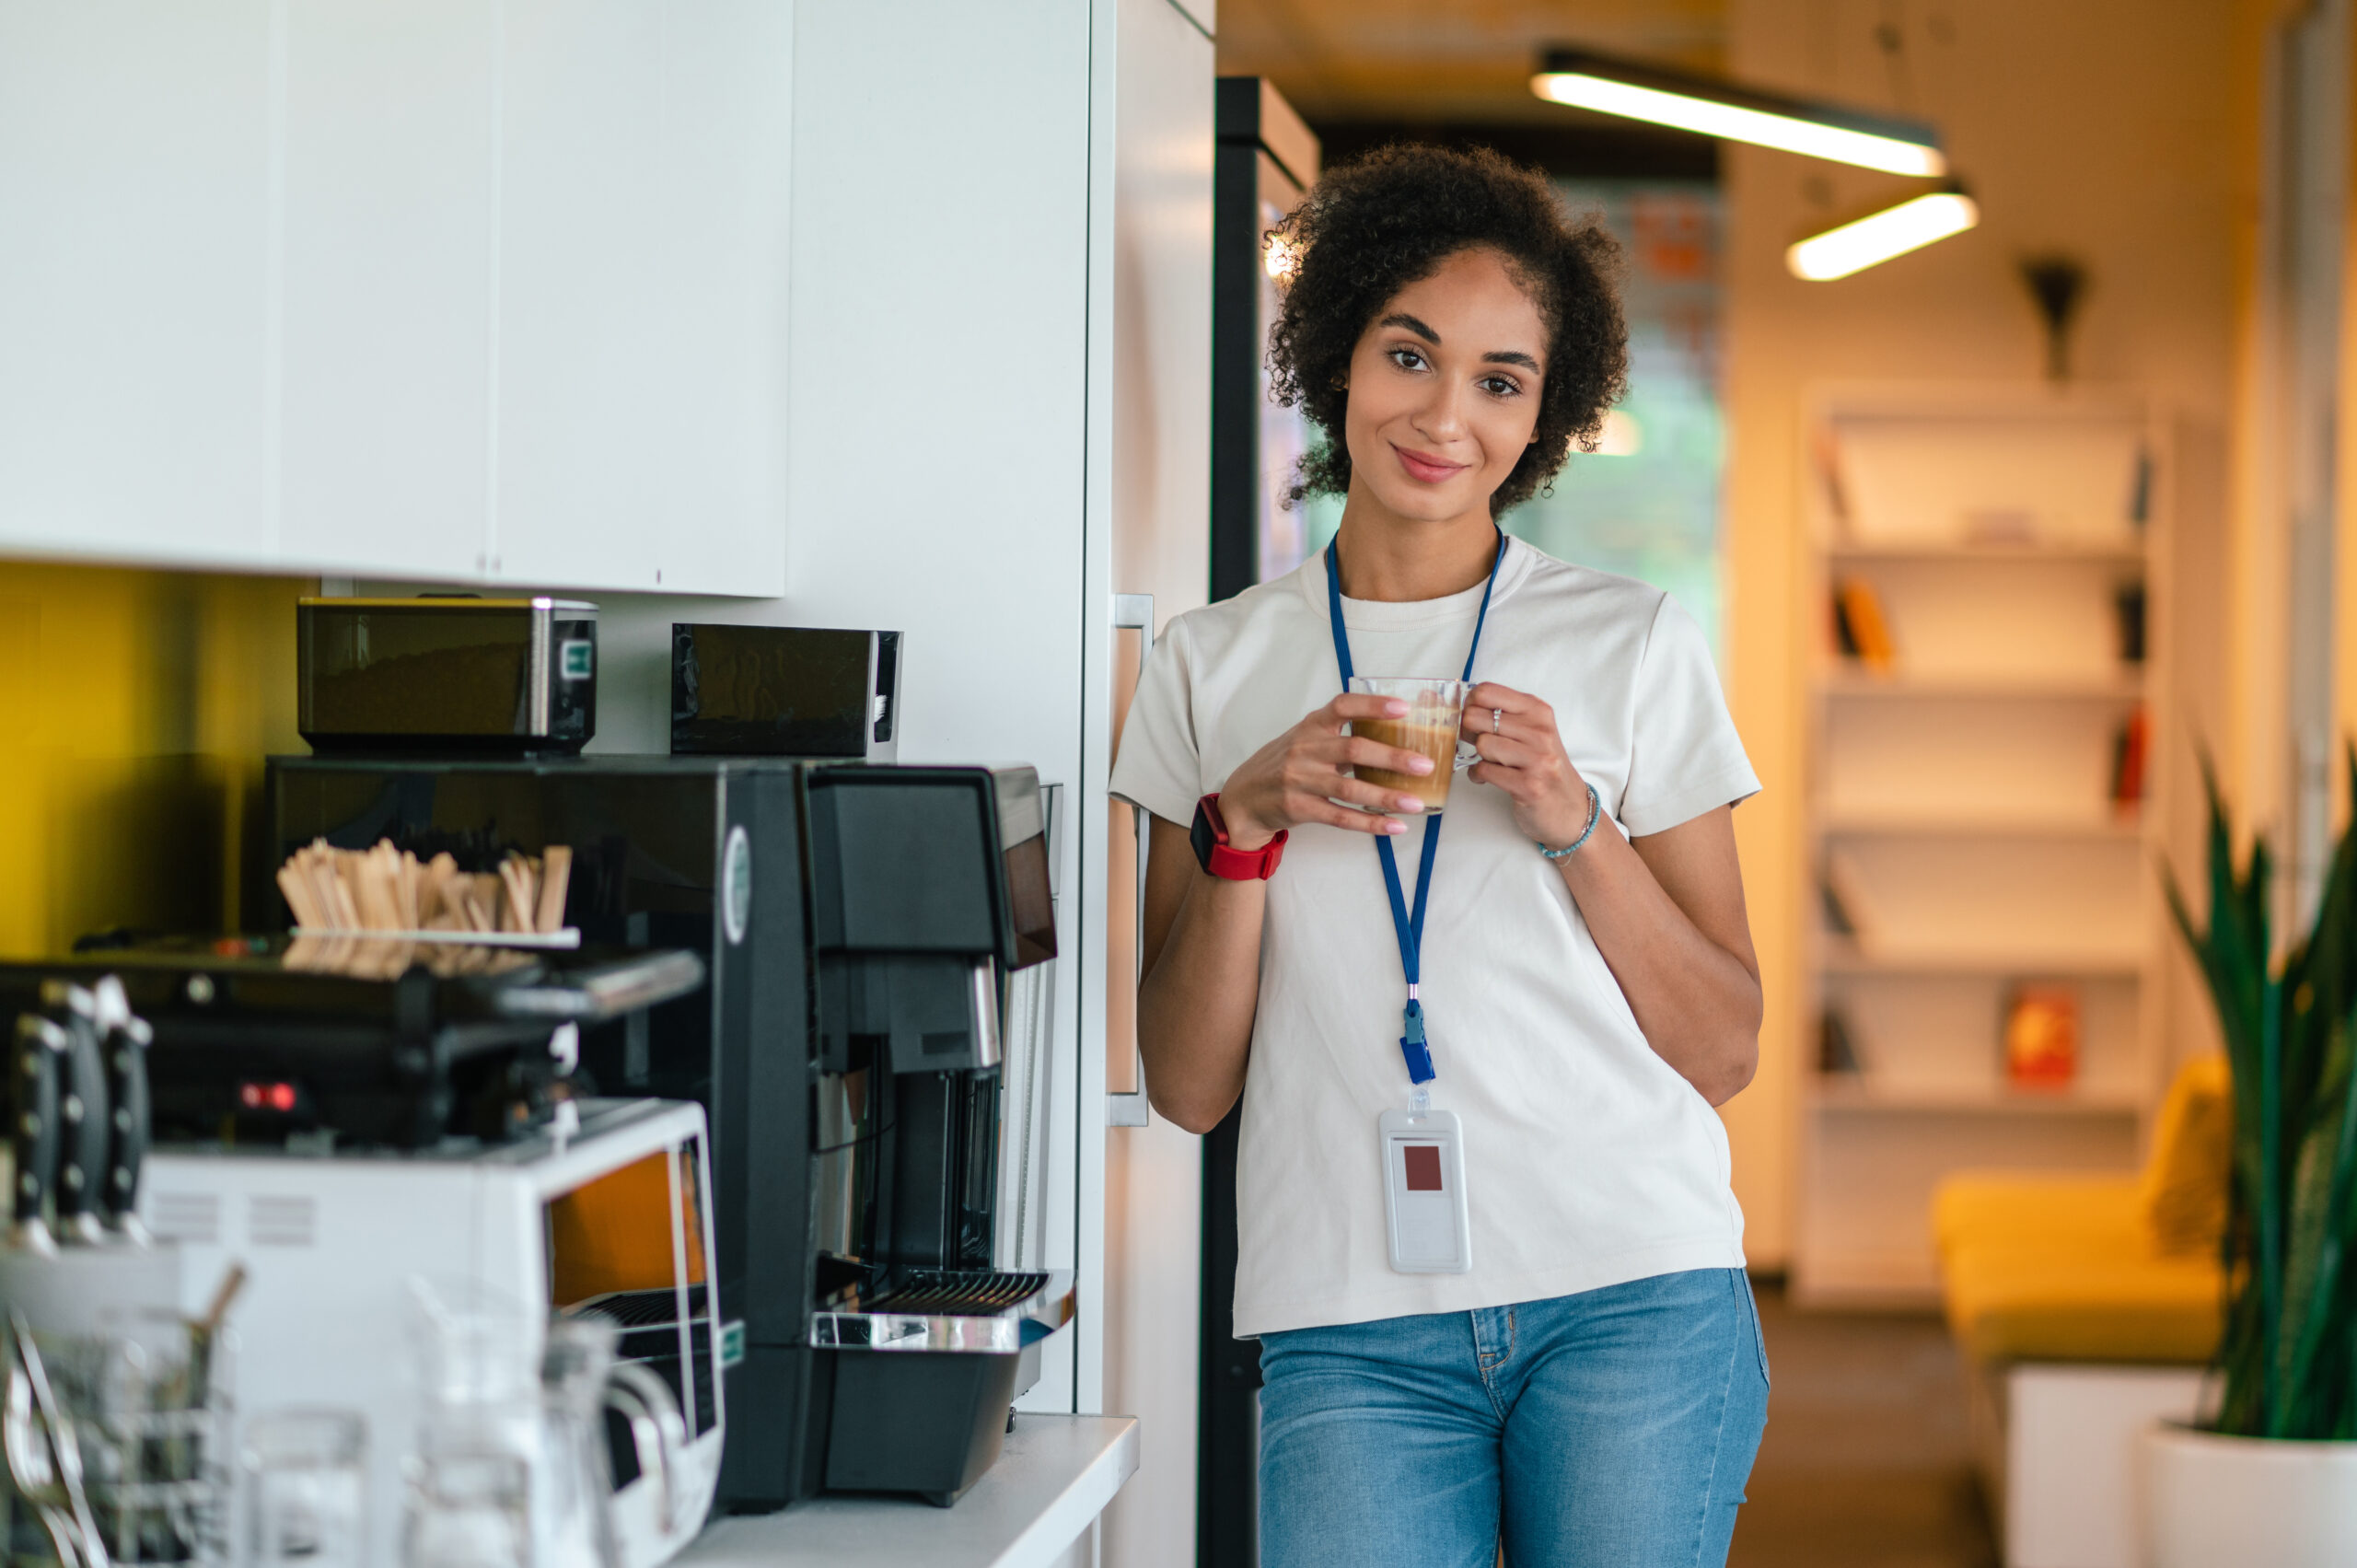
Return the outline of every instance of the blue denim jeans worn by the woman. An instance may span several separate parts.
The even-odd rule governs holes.
[[[1725,1563],[1768,1424],[1739,1269],[1261,1337],[1263,1568]]]

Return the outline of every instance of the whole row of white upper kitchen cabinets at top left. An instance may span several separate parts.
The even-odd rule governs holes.
[[[790,0],[0,0],[0,552],[783,587]]]

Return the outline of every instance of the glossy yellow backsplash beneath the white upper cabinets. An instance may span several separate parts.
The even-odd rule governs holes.
[[[0,561],[0,955],[238,922],[262,757],[299,750],[299,592]]]

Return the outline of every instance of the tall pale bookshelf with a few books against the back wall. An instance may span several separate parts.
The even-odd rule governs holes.
[[[2164,424],[2128,391],[1831,387],[1808,415],[1808,1089],[1794,1294],[1937,1297],[1930,1193],[1970,1167],[2128,1170],[2161,1089],[2154,887],[2168,717]],[[1831,630],[1841,580],[1895,658]],[[2117,594],[2145,589],[2145,658]],[[2121,724],[2145,792],[2114,806]],[[1855,934],[1836,934],[1827,889]],[[2015,1087],[2018,986],[2079,1004],[2067,1087]],[[1841,1019],[1860,1068],[1822,1070]]]

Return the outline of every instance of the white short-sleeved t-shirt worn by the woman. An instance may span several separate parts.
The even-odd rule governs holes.
[[[1480,594],[1343,599],[1353,665],[1459,677]],[[1761,788],[1702,630],[1643,582],[1508,540],[1473,679],[1549,703],[1572,764],[1631,835]],[[1129,707],[1113,792],[1186,825],[1202,795],[1339,689],[1318,554],[1169,625]],[[1374,842],[1292,830],[1268,882],[1244,1075],[1237,1335],[1744,1264],[1718,1113],[1645,1045],[1508,804],[1457,776],[1424,924],[1433,1103],[1464,1125],[1473,1212],[1473,1271],[1454,1276],[1388,1261],[1376,1118],[1407,1106],[1407,990]],[[1414,821],[1395,839],[1409,896],[1421,844]]]

